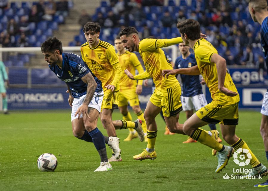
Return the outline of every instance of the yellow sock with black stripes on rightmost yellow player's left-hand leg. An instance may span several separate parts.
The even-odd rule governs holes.
[[[207,132],[198,128],[194,130],[194,132],[191,134],[190,137],[202,143],[203,145],[211,147],[217,151],[221,150],[223,145],[217,142],[216,140],[214,140],[211,136],[209,136]]]

